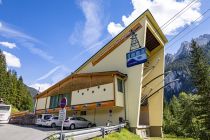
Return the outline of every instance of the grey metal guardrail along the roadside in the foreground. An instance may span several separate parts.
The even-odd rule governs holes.
[[[125,123],[113,125],[113,126],[106,126],[106,127],[98,127],[98,128],[91,128],[86,130],[78,130],[73,132],[63,132],[62,140],[87,140],[95,137],[105,137],[105,135],[111,132],[120,132],[122,128],[126,126]],[[60,140],[61,133],[56,133],[50,135],[49,137],[45,138],[44,140]]]

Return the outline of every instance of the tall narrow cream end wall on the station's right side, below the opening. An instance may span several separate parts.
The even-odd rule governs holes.
[[[151,52],[151,56],[149,58],[148,67],[154,66],[153,69],[147,70],[144,69],[143,85],[153,80],[155,77],[164,73],[164,47],[163,43],[155,33],[151,23],[149,21],[146,22],[147,27],[152,31],[154,35],[156,35],[156,39],[159,40],[160,46],[154,49]],[[149,73],[149,74],[148,74]],[[147,76],[146,76],[147,75]],[[145,94],[153,94],[158,89],[164,86],[164,75],[160,76],[156,80],[150,82],[150,84],[143,89],[142,95]],[[142,118],[149,119],[150,125],[150,136],[162,136],[162,120],[163,120],[163,97],[164,90],[161,89],[153,96],[148,99],[148,112],[142,114]],[[145,116],[146,115],[146,116]]]

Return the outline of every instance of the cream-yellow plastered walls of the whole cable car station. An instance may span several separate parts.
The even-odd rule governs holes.
[[[146,17],[139,20],[139,23],[142,25],[141,29],[138,30],[137,37],[141,46],[145,46],[146,41],[146,29],[147,27],[151,29],[154,35],[158,36],[155,33],[152,23],[150,23]],[[130,28],[131,29],[131,28]],[[130,29],[126,29],[125,32],[129,32]],[[121,36],[117,36],[115,41],[118,41]],[[157,39],[160,40],[159,37]],[[132,128],[140,128],[139,125],[139,118],[140,118],[140,101],[143,91],[142,85],[146,84],[147,82],[151,81],[154,77],[158,76],[159,74],[164,72],[164,48],[163,43],[160,40],[160,46],[157,47],[155,50],[151,52],[151,56],[149,57],[150,65],[153,65],[157,62],[156,67],[153,69],[151,73],[147,77],[145,75],[145,67],[146,64],[140,64],[133,67],[128,68],[126,66],[126,53],[130,51],[130,38],[124,41],[119,47],[114,49],[111,53],[107,54],[101,61],[93,65],[91,62],[87,65],[84,65],[83,68],[77,71],[77,73],[91,73],[91,72],[104,72],[104,71],[120,71],[124,74],[127,74],[127,79],[125,81],[125,93],[120,93],[117,91],[117,83],[115,78],[115,96],[113,90],[113,84],[110,89],[110,92],[105,94],[104,92],[101,94],[93,94],[89,93],[92,89],[87,89],[73,91],[72,92],[72,102],[71,105],[75,104],[84,104],[84,103],[91,103],[91,102],[99,102],[105,100],[113,100],[115,99],[115,105],[119,106],[119,108],[112,108],[114,111],[112,115],[109,114],[109,108],[107,109],[97,109],[97,110],[88,110],[87,114],[83,117],[87,118],[92,122],[96,122],[97,125],[104,125],[107,120],[111,119],[113,123],[118,123],[119,117],[126,118],[129,120],[130,126]],[[96,62],[96,61],[95,61]],[[144,79],[143,79],[144,78]],[[152,82],[150,87],[152,87],[153,91],[156,91],[158,88],[163,86],[164,84],[164,76]],[[143,83],[142,83],[143,82]],[[107,85],[108,86],[108,85]],[[102,88],[103,89],[103,88]],[[95,93],[96,90],[99,90],[98,87],[93,87]],[[107,90],[108,91],[108,90]],[[84,93],[84,95],[82,95]],[[100,91],[99,91],[100,93]],[[112,93],[112,94],[110,94]],[[100,96],[99,96],[100,95]],[[124,102],[125,96],[125,102]],[[40,103],[39,103],[40,102]],[[38,101],[38,106],[41,106],[42,101]],[[123,107],[125,105],[125,107]],[[111,109],[111,108],[110,108]],[[152,128],[159,130],[161,133],[161,126],[162,126],[162,114],[163,114],[163,90],[160,90],[157,94],[149,98],[148,100],[148,114],[144,117],[149,117],[147,121],[149,121],[149,125]],[[69,113],[72,116],[72,112]],[[147,118],[146,118],[147,119]],[[152,131],[152,130],[151,130]],[[159,133],[159,134],[160,134]],[[159,135],[158,134],[158,135]]]

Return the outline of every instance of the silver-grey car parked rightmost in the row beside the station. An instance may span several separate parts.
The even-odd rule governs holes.
[[[64,128],[69,128],[71,130],[75,128],[85,128],[92,127],[92,123],[82,117],[68,117],[63,124]]]

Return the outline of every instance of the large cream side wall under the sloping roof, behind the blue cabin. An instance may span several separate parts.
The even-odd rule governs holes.
[[[137,37],[141,46],[145,45],[145,18],[140,20],[142,28],[137,31]],[[129,31],[129,30],[128,30]],[[125,82],[126,94],[126,116],[131,127],[138,126],[140,99],[141,99],[141,80],[143,74],[143,64],[127,68],[126,53],[130,51],[130,38],[113,50],[95,66],[87,64],[78,73],[101,72],[101,71],[120,71],[128,75]]]

